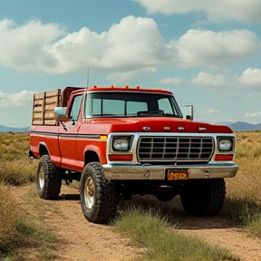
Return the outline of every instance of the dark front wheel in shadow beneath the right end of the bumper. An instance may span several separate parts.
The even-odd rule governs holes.
[[[226,196],[224,179],[188,180],[180,194],[183,208],[198,217],[215,216],[223,207]]]

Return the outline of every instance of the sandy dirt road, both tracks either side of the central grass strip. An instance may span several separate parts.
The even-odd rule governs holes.
[[[24,197],[32,186],[17,187],[13,190],[15,198],[25,208]],[[36,200],[41,200],[41,204],[44,202],[45,209],[50,207],[50,211],[45,210],[44,224],[50,224],[53,233],[60,239],[55,247],[55,254],[59,256],[57,260],[125,261],[139,255],[141,250],[131,244],[128,238],[115,234],[110,226],[92,224],[83,217],[79,192],[76,189],[62,186],[58,200]],[[134,200],[140,200],[140,204],[146,205],[148,202],[159,204],[156,198],[151,197],[136,197]],[[245,230],[231,227],[226,220],[218,217],[191,218],[184,212],[179,198],[162,204],[162,209],[169,213],[169,219],[173,220],[173,224],[182,220],[179,228],[173,225],[180,233],[201,237],[208,244],[227,247],[242,261],[261,260],[261,239],[250,236]]]

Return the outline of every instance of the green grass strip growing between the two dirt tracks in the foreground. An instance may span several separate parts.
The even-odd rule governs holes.
[[[198,237],[186,237],[160,218],[159,210],[130,208],[121,214],[114,227],[143,247],[142,261],[238,260],[222,247],[210,247]]]

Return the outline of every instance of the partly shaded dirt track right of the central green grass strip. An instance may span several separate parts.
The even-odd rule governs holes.
[[[154,197],[148,198],[150,206],[159,204],[159,200]],[[140,199],[140,202],[144,200]],[[178,223],[173,229],[178,229],[180,233],[202,238],[212,246],[225,247],[240,261],[261,261],[261,238],[254,237],[247,229],[233,227],[226,219],[218,216],[191,217],[182,208],[179,197],[167,203],[160,202],[160,205],[165,213],[169,213],[168,218],[172,218],[174,224]]]

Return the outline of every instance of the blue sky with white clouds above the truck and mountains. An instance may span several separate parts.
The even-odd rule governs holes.
[[[0,0],[0,125],[27,127],[34,92],[174,92],[195,121],[261,122],[260,0]]]

